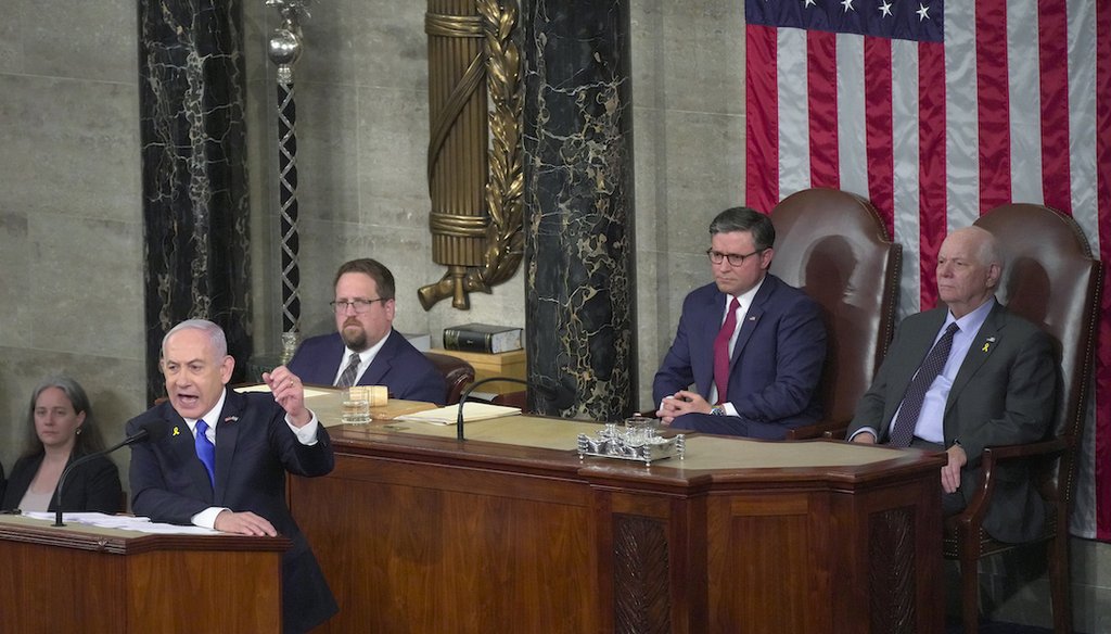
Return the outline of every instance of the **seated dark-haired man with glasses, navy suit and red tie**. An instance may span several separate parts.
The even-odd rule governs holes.
[[[821,416],[821,308],[768,273],[774,241],[771,219],[747,207],[710,224],[714,281],[683,300],[675,340],[652,383],[665,425],[783,438]]]

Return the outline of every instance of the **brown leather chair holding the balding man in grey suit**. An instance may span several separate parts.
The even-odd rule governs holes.
[[[1063,634],[1072,632],[1069,513],[1094,368],[1101,264],[1092,258],[1077,222],[1048,207],[1003,205],[975,224],[997,236],[1007,258],[999,300],[1052,336],[1061,363],[1061,394],[1053,430],[1045,440],[984,449],[982,482],[968,508],[947,518],[943,553],[960,562],[964,632],[974,634],[980,611],[979,559],[1045,543],[1053,631]],[[982,527],[991,502],[992,474],[1009,460],[1030,464],[1048,509],[1044,533],[1027,544],[997,542]],[[1034,548],[1031,554],[1038,552]]]

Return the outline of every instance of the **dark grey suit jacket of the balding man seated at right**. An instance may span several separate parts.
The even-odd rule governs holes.
[[[907,386],[933,347],[948,309],[911,315],[899,325],[875,380],[849,426],[880,433],[885,443]],[[984,447],[1032,443],[1045,437],[1057,405],[1058,370],[1049,335],[997,304],[977,333],[945,402],[945,447],[960,442],[969,464],[960,493],[968,502],[980,479]],[[940,476],[939,476],[940,477]],[[994,474],[997,485],[983,526],[1002,542],[1025,542],[1043,528],[1045,509],[1029,470],[1012,466]]]

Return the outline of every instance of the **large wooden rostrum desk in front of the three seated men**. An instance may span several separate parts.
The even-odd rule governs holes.
[[[291,507],[340,613],[383,633],[933,633],[941,456],[688,435],[647,467],[590,423],[334,426]]]

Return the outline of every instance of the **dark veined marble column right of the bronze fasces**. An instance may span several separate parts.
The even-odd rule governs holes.
[[[530,405],[618,420],[638,405],[629,0],[521,16],[528,370],[559,390]]]

